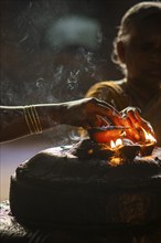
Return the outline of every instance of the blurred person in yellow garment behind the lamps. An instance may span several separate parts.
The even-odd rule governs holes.
[[[161,146],[161,2],[140,2],[124,14],[112,60],[124,77],[95,84],[86,97],[106,101],[118,110],[138,107]]]

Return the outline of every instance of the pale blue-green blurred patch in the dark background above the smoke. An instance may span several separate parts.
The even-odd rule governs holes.
[[[98,47],[100,25],[96,20],[82,15],[67,15],[52,22],[46,33],[46,42],[53,49],[68,45]]]

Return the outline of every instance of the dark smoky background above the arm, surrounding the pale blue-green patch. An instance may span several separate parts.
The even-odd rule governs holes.
[[[121,78],[110,54],[125,11],[138,0],[1,0],[1,104],[65,102],[80,98],[101,80]],[[52,24],[66,17],[97,21],[97,49],[54,47]],[[55,39],[56,36],[54,36]]]

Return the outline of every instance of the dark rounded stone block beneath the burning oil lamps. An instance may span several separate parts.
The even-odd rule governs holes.
[[[10,203],[19,222],[104,230],[161,222],[160,149],[117,167],[68,151],[47,149],[17,168]]]

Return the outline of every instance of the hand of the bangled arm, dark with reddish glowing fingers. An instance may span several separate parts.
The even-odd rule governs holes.
[[[116,125],[120,114],[111,105],[97,98],[83,98],[65,103],[64,124],[89,129],[92,127]]]

